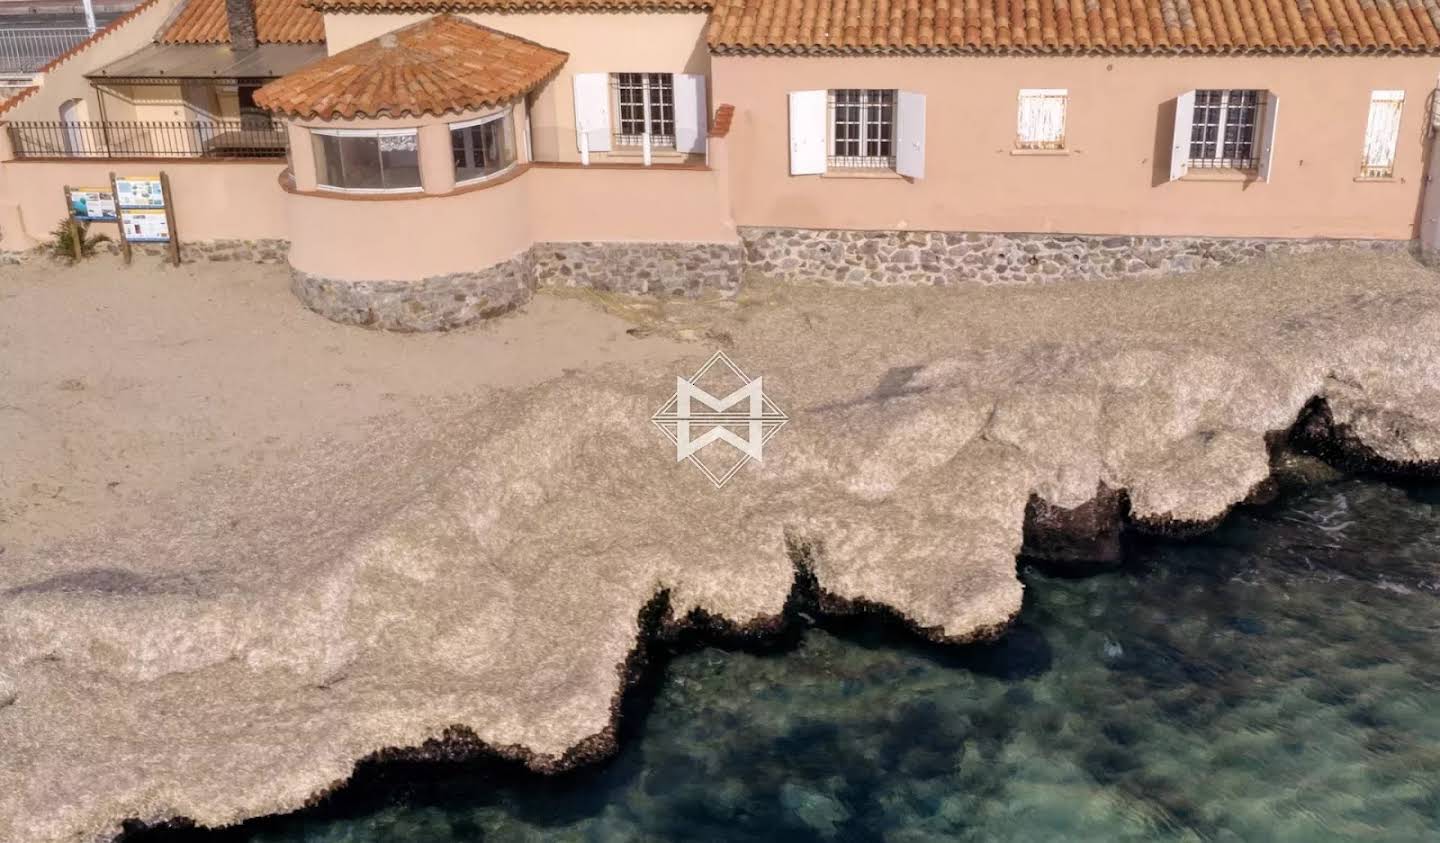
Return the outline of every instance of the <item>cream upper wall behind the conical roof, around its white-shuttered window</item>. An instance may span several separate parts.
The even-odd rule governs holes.
[[[325,14],[325,45],[331,55],[425,20],[429,14]],[[530,95],[530,134],[541,161],[579,161],[575,140],[575,73],[654,72],[710,73],[703,12],[611,13],[467,13],[464,17],[564,50],[560,72]],[[639,151],[596,153],[593,160],[639,157]],[[660,154],[661,159],[667,157]],[[670,157],[678,157],[674,153]]]

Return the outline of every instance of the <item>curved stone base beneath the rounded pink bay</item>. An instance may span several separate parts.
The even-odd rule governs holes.
[[[295,297],[325,318],[390,331],[444,331],[500,316],[530,300],[528,251],[475,272],[420,281],[343,281],[291,268]]]

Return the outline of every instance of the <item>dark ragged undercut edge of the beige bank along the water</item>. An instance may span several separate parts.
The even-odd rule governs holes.
[[[1270,464],[1272,474],[1251,496],[1236,506],[1273,503],[1284,493],[1346,476],[1395,480],[1440,477],[1440,461],[1397,463],[1380,457],[1352,431],[1336,425],[1326,402],[1319,398],[1305,406],[1292,428],[1276,431],[1272,437]],[[1146,525],[1129,520],[1128,509],[1123,490],[1103,487],[1094,499],[1068,510],[1032,499],[1025,512],[1025,543],[1020,558],[1067,575],[1086,575],[1123,562],[1126,532],[1194,536],[1218,527],[1234,512],[1231,509],[1204,523]],[[963,637],[935,634],[933,630],[919,627],[891,607],[827,594],[811,569],[808,561],[811,550],[806,546],[788,546],[795,565],[795,582],[783,611],[772,618],[740,625],[698,608],[677,618],[670,592],[657,594],[641,610],[635,648],[618,669],[621,690],[611,706],[611,723],[590,739],[575,745],[562,758],[554,761],[536,758],[523,746],[492,746],[471,728],[452,725],[438,738],[431,738],[419,746],[387,746],[359,759],[356,775],[314,794],[300,810],[324,816],[333,803],[350,795],[347,790],[353,788],[360,777],[405,780],[422,768],[444,775],[445,770],[456,765],[491,765],[497,768],[498,777],[514,778],[526,774],[562,775],[590,764],[603,764],[619,751],[625,709],[628,705],[635,705],[631,697],[648,693],[649,686],[658,679],[657,672],[661,669],[657,667],[657,660],[668,661],[706,647],[770,651],[793,643],[808,624],[837,623],[857,615],[877,615],[904,634],[916,635],[930,644],[963,647],[996,641],[1014,623],[1012,617],[1005,624],[976,630]],[[658,659],[657,653],[661,653]],[[264,821],[264,817],[259,820]],[[125,830],[112,843],[173,843],[183,840],[186,831],[206,830],[189,817],[173,817],[158,823],[144,823],[131,817],[122,821],[122,827]]]

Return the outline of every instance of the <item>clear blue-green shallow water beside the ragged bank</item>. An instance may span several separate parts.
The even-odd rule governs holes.
[[[864,621],[680,656],[579,774],[392,771],[184,837],[1440,840],[1440,490],[1348,481],[1132,555],[1025,569],[996,646]]]

